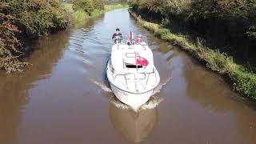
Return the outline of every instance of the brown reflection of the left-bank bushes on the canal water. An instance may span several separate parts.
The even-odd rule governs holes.
[[[34,54],[33,66],[29,66],[24,73],[0,73],[0,143],[14,143],[17,129],[22,118],[22,110],[29,102],[29,90],[34,87],[34,82],[50,77],[54,63],[62,57],[62,52],[67,46],[70,31],[62,31],[50,36],[50,41],[39,39],[32,46]],[[58,38],[57,38],[58,37]],[[38,51],[38,49],[40,49]]]

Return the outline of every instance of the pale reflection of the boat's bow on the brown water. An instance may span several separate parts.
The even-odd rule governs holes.
[[[158,123],[158,110],[154,108],[134,112],[110,104],[110,122],[126,141],[140,143],[153,133]]]

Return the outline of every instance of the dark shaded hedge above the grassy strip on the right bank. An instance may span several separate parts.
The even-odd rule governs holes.
[[[142,18],[189,31],[195,38],[205,38],[210,46],[254,62],[255,0],[130,0],[129,4]]]

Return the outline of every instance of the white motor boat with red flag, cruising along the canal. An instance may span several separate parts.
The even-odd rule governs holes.
[[[145,37],[137,44],[118,41],[112,47],[106,75],[114,95],[126,105],[138,109],[158,86],[158,70]]]

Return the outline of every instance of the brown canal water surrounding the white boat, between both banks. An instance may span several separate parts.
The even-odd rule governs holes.
[[[134,112],[106,84],[114,29],[148,37],[162,78]],[[254,144],[255,104],[189,55],[154,38],[125,9],[33,45],[33,66],[0,74],[0,144]]]

